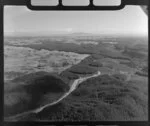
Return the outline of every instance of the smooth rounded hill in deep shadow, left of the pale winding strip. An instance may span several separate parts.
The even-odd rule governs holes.
[[[58,99],[69,86],[57,75],[37,72],[5,84],[5,116],[14,115]]]

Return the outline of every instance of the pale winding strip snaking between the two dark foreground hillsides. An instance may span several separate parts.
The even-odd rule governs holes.
[[[59,102],[61,102],[63,99],[65,99],[68,95],[70,95],[77,87],[79,84],[81,84],[82,82],[86,81],[87,79],[90,79],[90,78],[93,78],[93,77],[97,77],[101,75],[101,72],[98,71],[96,74],[94,75],[91,75],[91,76],[87,76],[87,77],[80,77],[76,80],[73,81],[73,83],[71,84],[70,86],[70,89],[68,92],[66,92],[64,95],[62,95],[58,100],[52,102],[52,103],[49,103],[49,104],[46,104],[42,107],[39,107],[35,110],[31,110],[31,111],[27,111],[27,112],[23,112],[23,113],[20,113],[20,114],[17,114],[17,115],[14,115],[14,116],[11,116],[11,117],[8,117],[6,118],[5,120],[14,120],[15,118],[18,118],[18,117],[23,117],[23,116],[26,116],[27,114],[37,114],[41,111],[43,111],[45,108],[47,107],[50,107],[50,106],[53,106],[53,105],[56,105],[58,104]]]

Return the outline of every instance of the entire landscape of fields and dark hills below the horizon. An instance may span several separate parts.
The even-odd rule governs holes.
[[[146,41],[92,35],[5,38],[5,119],[147,120]],[[26,114],[17,116],[21,113]]]

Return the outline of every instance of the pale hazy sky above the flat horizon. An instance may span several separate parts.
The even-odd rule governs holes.
[[[26,6],[4,7],[4,33],[147,35],[148,17],[139,6],[117,11],[32,11]]]

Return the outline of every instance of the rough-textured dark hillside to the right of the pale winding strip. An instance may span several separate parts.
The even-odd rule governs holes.
[[[146,94],[147,90],[135,80],[123,82],[115,76],[102,75],[82,83],[64,101],[32,118],[51,121],[147,120]]]

